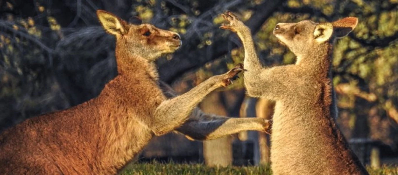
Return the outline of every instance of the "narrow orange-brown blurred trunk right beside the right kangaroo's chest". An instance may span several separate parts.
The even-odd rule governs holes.
[[[275,102],[267,100],[265,98],[260,98],[256,104],[256,116],[259,118],[265,118],[270,120],[274,113]],[[267,165],[270,163],[270,147],[269,147],[269,135],[260,132],[258,135],[259,153],[260,160],[259,164]]]

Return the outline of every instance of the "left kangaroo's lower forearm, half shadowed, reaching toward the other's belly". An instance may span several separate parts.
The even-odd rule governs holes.
[[[217,117],[207,121],[188,120],[176,130],[195,140],[213,140],[246,130],[264,131],[264,124],[261,118]]]

